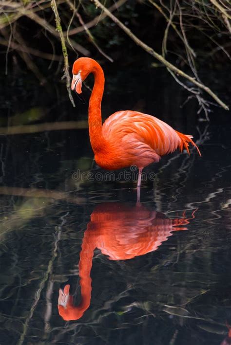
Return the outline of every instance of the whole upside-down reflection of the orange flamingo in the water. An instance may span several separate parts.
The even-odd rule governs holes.
[[[194,212],[192,218],[194,218]],[[100,249],[110,260],[127,260],[155,251],[173,231],[187,230],[189,220],[165,218],[162,213],[135,206],[106,203],[96,206],[87,225],[79,260],[81,302],[76,307],[70,295],[70,285],[59,289],[58,312],[66,321],[79,319],[91,302],[92,259],[94,250]]]

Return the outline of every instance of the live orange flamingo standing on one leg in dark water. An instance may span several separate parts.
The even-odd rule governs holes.
[[[196,147],[192,135],[177,132],[158,118],[138,111],[117,111],[102,126],[101,101],[104,91],[104,73],[90,57],[80,57],[73,65],[71,89],[82,92],[82,82],[90,73],[95,77],[89,101],[89,134],[96,163],[103,169],[116,170],[135,165],[138,168],[137,201],[140,196],[142,170],[161,156],[177,148],[189,152],[189,143]]]

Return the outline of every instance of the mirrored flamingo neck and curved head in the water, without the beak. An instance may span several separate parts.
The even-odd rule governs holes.
[[[90,277],[90,272],[92,268],[94,249],[96,248],[95,236],[92,235],[93,233],[85,231],[82,241],[82,250],[80,252],[78,267],[81,302],[77,307],[75,307],[73,303],[73,296],[69,296],[65,307],[58,305],[59,314],[66,321],[77,320],[82,317],[83,313],[89,308],[91,303],[92,279]]]

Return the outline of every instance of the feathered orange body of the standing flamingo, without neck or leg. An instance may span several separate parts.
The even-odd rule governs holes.
[[[139,169],[159,162],[161,156],[183,148],[182,138],[168,124],[138,111],[123,110],[111,115],[102,126],[105,149],[96,153],[96,163],[116,170],[136,165]],[[185,136],[185,142],[191,137]]]

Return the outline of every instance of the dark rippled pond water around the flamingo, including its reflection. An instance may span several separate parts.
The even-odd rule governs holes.
[[[196,102],[180,108],[187,95],[160,70],[107,75],[103,114],[154,114],[193,134],[202,158],[175,152],[146,168],[155,178],[142,182],[141,205],[129,169],[96,181],[105,171],[87,129],[0,136],[1,345],[218,345],[228,335],[230,114],[213,108],[198,121]],[[65,89],[48,92],[9,77],[1,126],[87,119]],[[80,304],[69,322],[58,313],[66,285]]]

